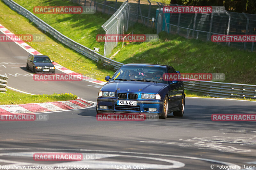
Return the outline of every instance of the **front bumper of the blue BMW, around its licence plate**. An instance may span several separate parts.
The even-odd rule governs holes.
[[[146,116],[160,116],[163,109],[163,100],[134,100],[137,101],[136,107],[117,105],[118,99],[97,98],[98,113],[137,113]],[[107,106],[101,109],[100,106]],[[123,108],[122,108],[123,107]],[[149,112],[149,108],[156,108],[156,112]]]

